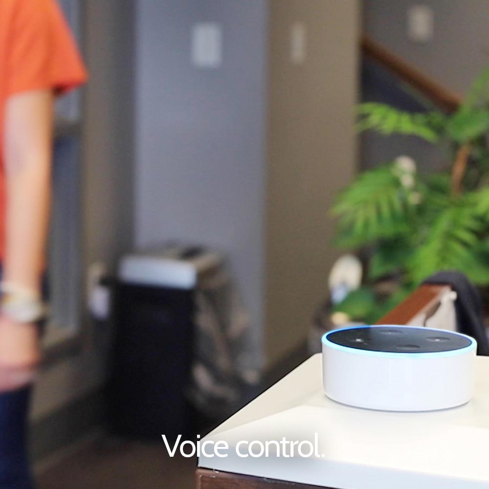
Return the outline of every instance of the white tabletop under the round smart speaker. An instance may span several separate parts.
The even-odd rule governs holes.
[[[489,357],[476,364],[475,396],[466,405],[394,413],[326,398],[321,354],[311,356],[209,433],[202,441],[227,442],[227,456],[200,456],[198,465],[338,489],[487,489]],[[240,458],[235,450],[241,440],[312,441],[314,433],[324,456]]]

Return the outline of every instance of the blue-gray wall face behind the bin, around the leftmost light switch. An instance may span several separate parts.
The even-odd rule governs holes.
[[[195,22],[223,26],[223,64],[190,63]],[[135,239],[229,259],[262,328],[267,2],[139,0]]]

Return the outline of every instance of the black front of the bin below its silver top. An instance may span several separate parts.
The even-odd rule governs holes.
[[[194,291],[118,282],[108,386],[111,432],[176,440],[193,432],[185,399],[193,352]]]

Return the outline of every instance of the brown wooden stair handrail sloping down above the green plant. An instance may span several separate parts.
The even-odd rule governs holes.
[[[363,54],[377,61],[442,109],[453,112],[462,103],[462,97],[459,94],[447,89],[418,68],[407,63],[398,55],[378,44],[370,36],[364,34],[361,37],[360,45]]]

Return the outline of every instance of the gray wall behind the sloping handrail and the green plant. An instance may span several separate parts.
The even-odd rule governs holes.
[[[423,0],[434,11],[434,38],[428,44],[416,44],[407,37],[407,9],[416,0],[365,0],[364,30],[379,43],[432,76],[447,88],[463,94],[470,81],[489,63],[489,2],[481,0]],[[372,65],[364,67],[364,100],[396,104],[417,110],[392,78]],[[389,82],[389,78],[391,82]],[[401,154],[413,156],[421,169],[441,167],[449,155],[416,138],[385,138],[369,133],[362,137],[362,164],[373,166]]]

